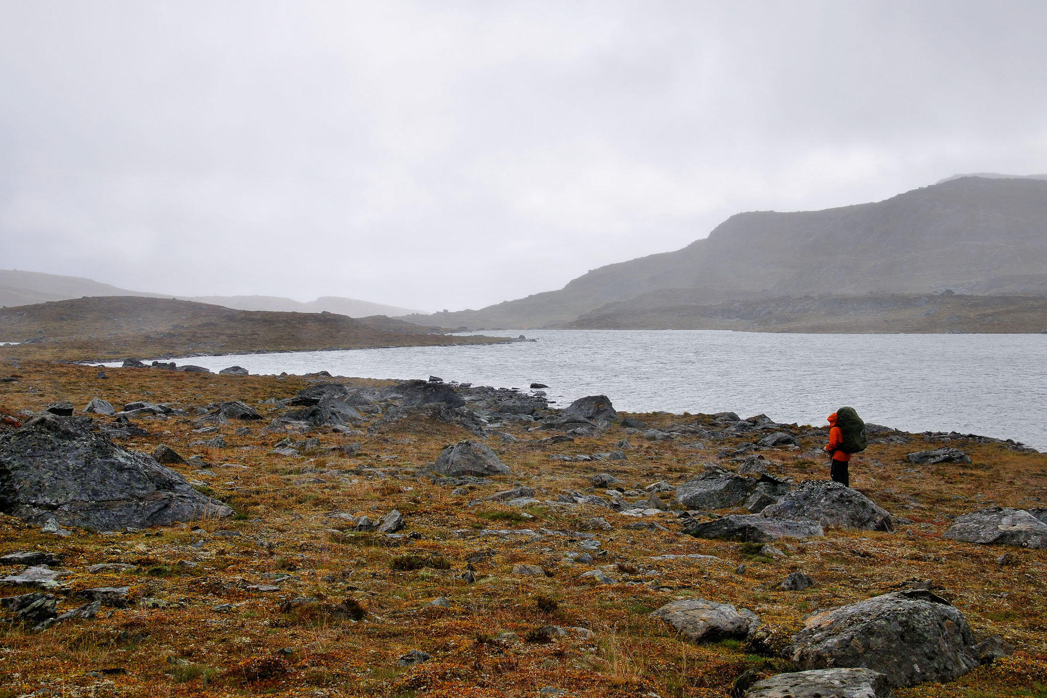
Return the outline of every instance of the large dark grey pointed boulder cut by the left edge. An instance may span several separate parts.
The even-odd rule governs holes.
[[[50,414],[0,436],[0,511],[98,531],[233,514],[151,456],[101,436],[90,420]]]

